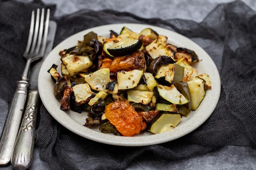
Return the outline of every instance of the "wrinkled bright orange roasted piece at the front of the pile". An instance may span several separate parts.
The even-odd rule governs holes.
[[[146,122],[128,100],[112,102],[105,109],[105,116],[124,136],[133,136],[146,128]]]

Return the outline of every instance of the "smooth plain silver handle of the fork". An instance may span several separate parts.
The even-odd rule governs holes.
[[[9,112],[0,139],[0,166],[7,165],[11,160],[13,147],[20,128],[20,121],[27,99],[27,88],[29,83],[21,80],[16,83],[16,86],[16,92],[11,101],[11,106],[9,107]]]

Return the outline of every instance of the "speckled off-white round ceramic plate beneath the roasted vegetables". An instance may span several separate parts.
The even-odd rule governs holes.
[[[199,74],[208,73],[210,75],[212,81],[211,90],[206,91],[206,95],[198,109],[192,111],[188,117],[182,117],[182,120],[178,126],[173,130],[154,135],[150,132],[144,132],[143,134],[136,135],[134,137],[115,136],[112,134],[104,134],[100,132],[98,128],[92,129],[83,126],[85,124],[87,113],[79,114],[73,111],[66,113],[60,110],[61,100],[55,98],[53,91],[54,82],[47,72],[47,70],[51,68],[52,64],[56,64],[58,65],[59,73],[61,73],[61,60],[60,56],[58,55],[59,52],[75,46],[78,40],[83,40],[83,36],[90,31],[94,31],[98,35],[108,37],[110,30],[119,33],[123,26],[127,26],[132,31],[137,33],[139,33],[142,29],[149,27],[161,35],[166,35],[169,43],[194,50],[195,53],[198,54],[201,61],[194,64],[193,67],[198,70]],[[208,119],[208,117],[213,113],[213,110],[215,109],[220,97],[220,76],[218,70],[213,60],[211,60],[211,57],[200,46],[183,35],[173,31],[144,24],[110,24],[87,29],[72,35],[58,44],[51,51],[51,53],[49,53],[40,69],[39,77],[38,90],[40,97],[45,108],[49,111],[52,117],[54,117],[54,119],[77,135],[93,141],[117,146],[147,146],[164,143],[182,137],[198,128],[202,123],[204,123],[204,121]]]

